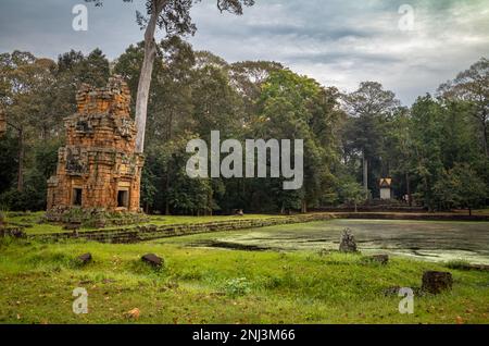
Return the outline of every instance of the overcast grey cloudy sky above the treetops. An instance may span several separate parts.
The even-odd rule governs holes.
[[[57,58],[99,47],[114,59],[142,39],[135,11],[143,0],[87,4],[87,32],[72,28],[77,3],[84,1],[0,0],[0,52]],[[414,9],[412,30],[400,29],[402,4]],[[275,60],[347,91],[377,81],[404,104],[489,57],[489,0],[256,0],[240,17],[202,0],[192,18],[196,49],[229,62]]]

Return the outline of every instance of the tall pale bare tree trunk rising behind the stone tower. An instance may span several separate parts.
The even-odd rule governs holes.
[[[148,114],[148,101],[153,73],[154,58],[156,55],[156,44],[154,33],[156,30],[158,17],[162,11],[160,1],[153,0],[153,11],[145,32],[145,60],[139,76],[138,92],[136,97],[136,152],[145,151],[146,119]]]

